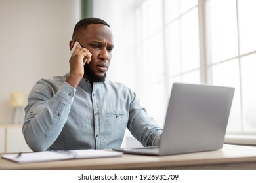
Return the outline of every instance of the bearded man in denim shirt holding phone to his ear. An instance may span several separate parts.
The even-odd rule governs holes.
[[[127,86],[106,80],[114,48],[110,25],[85,18],[74,28],[70,72],[39,80],[28,96],[23,134],[33,151],[119,148],[126,127],[144,146],[162,129]]]

